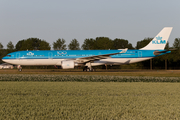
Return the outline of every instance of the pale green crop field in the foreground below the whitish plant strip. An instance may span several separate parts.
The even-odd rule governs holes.
[[[180,83],[0,82],[0,119],[180,119]]]

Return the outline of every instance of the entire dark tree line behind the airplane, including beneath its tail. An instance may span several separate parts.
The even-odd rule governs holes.
[[[146,46],[153,38],[144,38],[137,42],[136,46],[133,47],[128,40],[116,38],[111,40],[108,37],[96,37],[87,38],[84,40],[82,46],[80,46],[77,39],[72,39],[71,42],[66,45],[65,39],[58,39],[52,43],[52,49],[54,50],[107,50],[107,49],[140,49]],[[173,46],[169,46],[167,43],[165,49],[172,50],[170,54],[166,54],[160,57],[153,58],[153,68],[165,68],[165,63],[167,64],[167,69],[179,69],[180,68],[180,38],[175,38]],[[10,41],[7,44],[7,49],[0,43],[0,63],[2,63],[2,57],[6,56],[10,52],[22,51],[22,50],[51,50],[51,45],[45,40],[39,38],[28,38],[17,42],[16,45]],[[135,63],[137,68],[150,68],[150,61],[143,61],[140,63]]]

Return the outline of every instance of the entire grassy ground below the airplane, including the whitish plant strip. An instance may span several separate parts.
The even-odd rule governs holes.
[[[179,77],[172,70],[0,70],[0,119],[180,119]]]

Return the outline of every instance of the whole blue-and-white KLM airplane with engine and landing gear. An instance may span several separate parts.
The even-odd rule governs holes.
[[[172,27],[164,27],[154,39],[139,50],[31,50],[9,53],[2,61],[22,66],[61,66],[62,69],[74,69],[82,66],[83,71],[94,71],[93,66],[122,65],[136,63],[170,53],[164,50]]]

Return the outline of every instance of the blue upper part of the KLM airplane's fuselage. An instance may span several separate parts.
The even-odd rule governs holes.
[[[43,50],[43,51],[17,51],[3,57],[6,59],[76,59],[95,55],[117,53],[121,50]],[[156,50],[127,50],[126,53],[112,55],[111,58],[147,58],[156,57]],[[164,50],[158,50],[164,51]],[[166,52],[170,53],[170,51]],[[166,54],[161,53],[160,55]],[[159,55],[158,55],[159,56]]]

